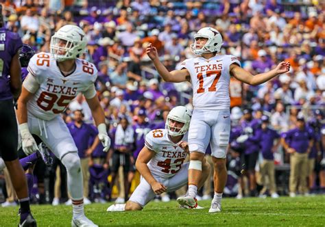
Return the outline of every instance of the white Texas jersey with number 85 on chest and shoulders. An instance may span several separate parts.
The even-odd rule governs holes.
[[[28,77],[32,75],[39,84],[38,90],[32,92],[34,96],[27,103],[31,114],[43,120],[51,120],[62,113],[79,92],[86,98],[95,96],[97,68],[83,59],[75,59],[75,64],[75,70],[64,77],[51,54],[38,53],[30,59]],[[24,87],[30,90],[27,84]]]

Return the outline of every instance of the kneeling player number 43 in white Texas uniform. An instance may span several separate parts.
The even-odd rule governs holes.
[[[166,129],[147,133],[145,146],[136,159],[136,169],[141,174],[140,184],[126,204],[114,204],[107,211],[140,211],[156,194],[176,191],[186,185],[189,163],[183,161],[189,152],[186,139],[190,120],[189,109],[174,107],[167,116]],[[204,159],[199,187],[206,181],[209,171],[210,166]]]

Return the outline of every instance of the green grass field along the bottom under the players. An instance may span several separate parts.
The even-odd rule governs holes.
[[[223,200],[222,213],[179,209],[172,202],[150,202],[143,211],[107,213],[107,204],[86,206],[86,215],[99,226],[325,226],[325,196],[244,198]],[[0,226],[17,226],[16,208],[0,207]],[[38,226],[71,226],[71,206],[32,206]]]

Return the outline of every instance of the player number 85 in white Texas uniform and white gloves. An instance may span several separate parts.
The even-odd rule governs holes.
[[[24,152],[28,155],[38,150],[32,134],[38,135],[67,168],[68,189],[73,201],[71,226],[97,226],[84,215],[80,158],[60,116],[78,93],[84,94],[91,108],[104,151],[110,146],[104,110],[95,91],[97,69],[90,62],[77,58],[84,53],[86,44],[86,34],[80,27],[61,27],[51,37],[51,53],[38,53],[30,59],[17,109]]]

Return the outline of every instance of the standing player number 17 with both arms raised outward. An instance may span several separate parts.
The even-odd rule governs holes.
[[[215,196],[209,213],[221,211],[221,197],[227,180],[226,150],[230,135],[230,77],[243,83],[259,85],[288,72],[289,62],[280,62],[269,72],[252,75],[241,68],[232,55],[218,55],[223,44],[221,34],[204,27],[194,35],[191,49],[197,57],[184,60],[182,69],[169,72],[160,62],[156,48],[149,44],[147,55],[158,73],[167,82],[191,81],[193,86],[193,117],[189,127],[189,191],[178,198],[180,204],[194,206],[197,185],[202,172],[204,152],[210,142],[214,163]]]

